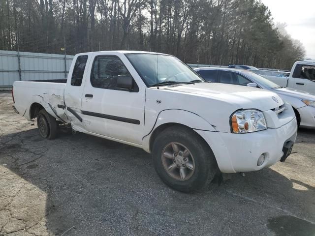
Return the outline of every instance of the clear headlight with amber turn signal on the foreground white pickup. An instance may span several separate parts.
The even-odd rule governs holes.
[[[232,133],[250,133],[267,129],[262,112],[257,110],[240,110],[231,116]]]

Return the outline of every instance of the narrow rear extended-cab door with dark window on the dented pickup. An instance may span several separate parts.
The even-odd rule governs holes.
[[[89,63],[88,55],[76,55],[71,64],[67,85],[64,91],[65,112],[67,117],[71,120],[72,127],[77,131],[84,132],[83,115],[81,98],[86,81]]]

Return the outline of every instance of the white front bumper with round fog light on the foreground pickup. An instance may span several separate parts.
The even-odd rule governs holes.
[[[250,172],[280,161],[284,154],[284,143],[295,142],[297,122],[293,118],[280,128],[268,128],[247,134],[195,131],[213,150],[222,173]],[[265,161],[257,166],[261,154],[265,155]]]

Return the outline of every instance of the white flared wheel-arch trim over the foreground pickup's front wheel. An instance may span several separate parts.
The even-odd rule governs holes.
[[[156,130],[160,125],[167,123],[178,123],[196,130],[217,131],[207,120],[195,113],[178,109],[163,110],[158,114],[156,122],[150,133],[146,134],[142,138],[142,145],[145,151],[151,152],[150,139],[154,130]]]

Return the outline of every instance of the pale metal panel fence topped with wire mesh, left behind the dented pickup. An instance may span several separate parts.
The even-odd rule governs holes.
[[[0,32],[0,90],[19,80],[64,79],[73,55],[121,49],[75,35],[49,34],[40,30]],[[125,49],[131,50],[128,45]]]

